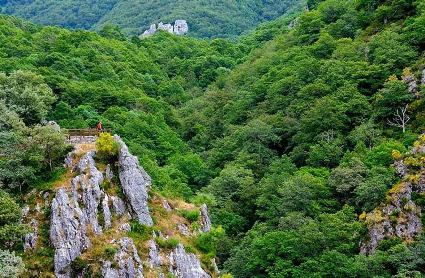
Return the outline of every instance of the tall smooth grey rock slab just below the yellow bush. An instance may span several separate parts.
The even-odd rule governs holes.
[[[130,213],[140,224],[152,226],[153,221],[147,207],[147,187],[151,185],[150,176],[139,165],[137,156],[130,154],[127,145],[119,136],[114,135],[113,139],[121,145],[118,152],[119,180]]]

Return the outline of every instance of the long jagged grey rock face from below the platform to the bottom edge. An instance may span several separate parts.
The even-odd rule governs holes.
[[[90,150],[79,159],[75,167],[79,175],[71,179],[71,190],[59,188],[51,202],[50,241],[55,249],[54,269],[58,278],[68,278],[71,262],[91,247],[88,226],[95,234],[102,233],[97,208],[103,175],[95,166],[95,154]]]

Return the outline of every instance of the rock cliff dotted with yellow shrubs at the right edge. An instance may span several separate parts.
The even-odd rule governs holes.
[[[374,253],[385,239],[401,238],[411,241],[423,229],[421,206],[415,203],[415,194],[425,193],[425,136],[419,137],[416,147],[405,154],[397,155],[394,166],[402,181],[388,191],[385,201],[366,214],[368,239],[360,242],[360,252]]]

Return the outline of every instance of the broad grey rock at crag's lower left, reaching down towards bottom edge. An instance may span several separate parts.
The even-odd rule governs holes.
[[[71,262],[91,247],[86,235],[87,221],[78,202],[59,188],[51,203],[50,241],[54,252],[54,272],[57,278],[70,276]]]

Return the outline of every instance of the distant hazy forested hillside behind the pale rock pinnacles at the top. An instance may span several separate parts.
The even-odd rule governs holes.
[[[0,12],[68,29],[100,31],[106,24],[118,25],[127,35],[142,34],[152,23],[173,24],[176,19],[184,19],[192,37],[235,38],[289,9],[300,10],[303,3],[303,0],[2,0]]]

